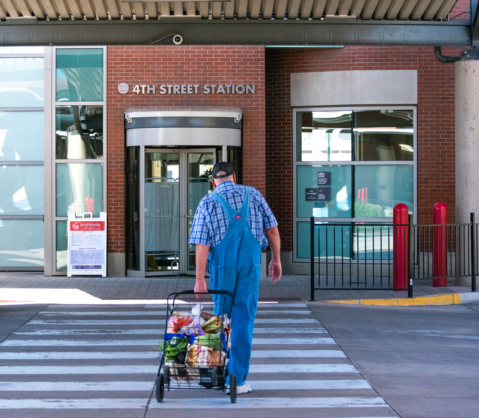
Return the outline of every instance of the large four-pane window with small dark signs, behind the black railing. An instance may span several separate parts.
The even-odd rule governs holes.
[[[414,108],[297,109],[295,116],[298,260],[309,259],[311,216],[324,218],[324,223],[392,222],[398,203],[413,213]],[[342,247],[336,248],[336,254],[356,258],[354,243],[363,230],[350,231],[352,236],[328,240],[335,239],[336,247]],[[322,236],[321,227],[316,233]],[[369,258],[368,250],[360,257]]]

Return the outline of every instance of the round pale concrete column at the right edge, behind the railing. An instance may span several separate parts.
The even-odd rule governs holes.
[[[479,59],[456,61],[455,90],[456,223],[468,223],[470,212],[479,217]],[[456,279],[456,285],[470,286],[471,279]]]

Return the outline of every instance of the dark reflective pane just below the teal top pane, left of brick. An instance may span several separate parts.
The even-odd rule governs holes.
[[[103,158],[103,106],[57,106],[57,159]]]

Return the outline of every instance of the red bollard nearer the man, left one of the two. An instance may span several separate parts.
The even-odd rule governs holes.
[[[408,219],[408,207],[404,203],[398,203],[393,209],[393,224],[406,225]],[[406,290],[408,288],[409,266],[409,226],[393,227],[393,279],[394,290]]]

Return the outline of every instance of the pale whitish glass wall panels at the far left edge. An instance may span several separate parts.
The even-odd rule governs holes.
[[[44,48],[0,47],[0,270],[44,268]]]

